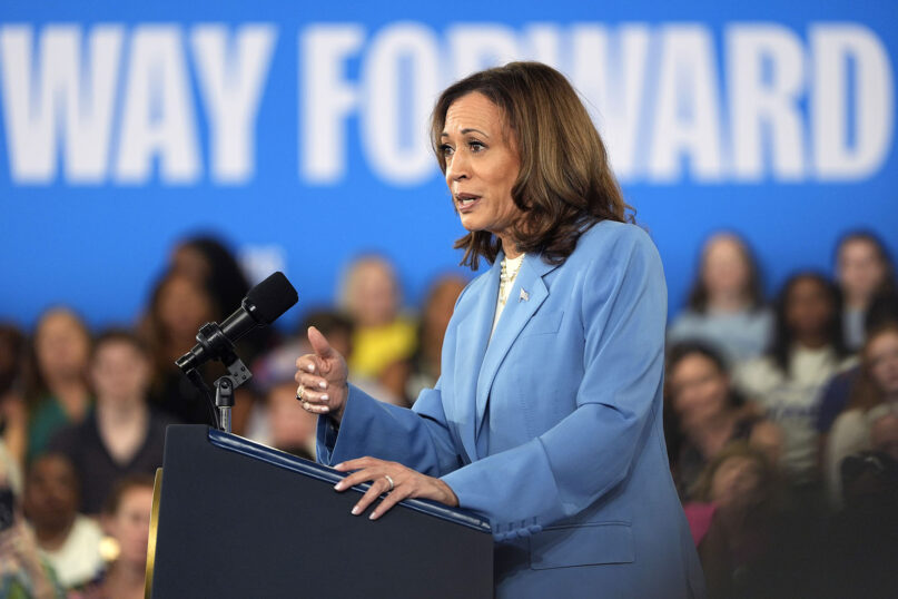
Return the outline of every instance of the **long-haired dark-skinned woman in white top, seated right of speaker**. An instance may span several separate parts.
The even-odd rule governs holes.
[[[795,275],[777,298],[776,323],[768,354],[739,367],[734,380],[782,429],[782,467],[790,482],[810,490],[820,481],[815,426],[820,391],[852,364],[842,341],[838,292],[819,274]]]

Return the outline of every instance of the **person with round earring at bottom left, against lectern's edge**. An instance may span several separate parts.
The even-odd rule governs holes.
[[[116,481],[103,505],[102,527],[118,554],[83,599],[144,598],[151,510],[152,477],[136,474]]]

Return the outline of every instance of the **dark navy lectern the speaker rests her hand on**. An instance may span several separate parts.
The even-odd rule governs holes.
[[[333,469],[207,426],[169,426],[154,598],[493,595],[493,540],[473,514],[403,502],[349,510]]]

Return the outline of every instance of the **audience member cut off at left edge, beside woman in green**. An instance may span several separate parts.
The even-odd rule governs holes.
[[[22,373],[28,343],[12,324],[0,323],[0,440],[3,450],[24,464],[28,449],[28,412],[22,396]]]

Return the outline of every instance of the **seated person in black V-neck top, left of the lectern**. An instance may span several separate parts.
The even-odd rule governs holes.
[[[97,338],[90,362],[96,410],[50,443],[78,471],[83,513],[100,512],[116,480],[152,474],[162,465],[165,429],[172,421],[147,405],[150,372],[147,350],[129,331],[111,330]]]

